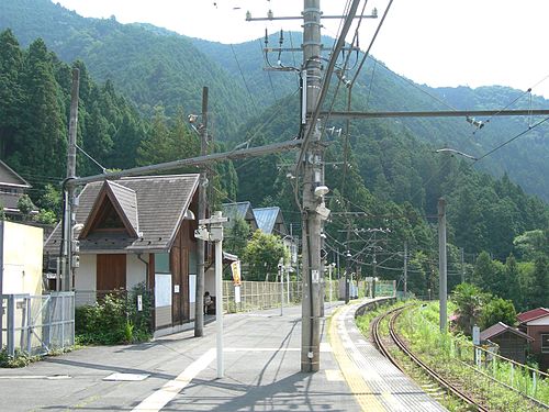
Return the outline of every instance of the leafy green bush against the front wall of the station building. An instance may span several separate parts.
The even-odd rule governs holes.
[[[137,296],[143,310],[137,311]],[[93,305],[76,309],[76,339],[80,344],[115,345],[148,341],[152,297],[144,283],[137,285],[127,297],[109,293]]]

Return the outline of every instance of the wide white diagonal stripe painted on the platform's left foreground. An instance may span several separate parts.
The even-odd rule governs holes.
[[[211,348],[200,358],[189,365],[179,376],[167,382],[164,387],[146,398],[133,411],[158,412],[168,404],[176,396],[188,386],[191,380],[204,370],[215,359],[215,349]]]

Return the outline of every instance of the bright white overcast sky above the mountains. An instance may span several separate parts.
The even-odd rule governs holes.
[[[299,21],[245,21],[246,10],[255,18],[266,16],[269,9],[274,16],[300,15],[301,0],[54,1],[83,16],[114,14],[122,23],[148,22],[221,43],[261,37],[266,27],[269,33],[302,30]],[[340,15],[346,3],[321,0],[321,8],[325,15]],[[369,0],[367,11],[378,8],[381,19],[386,4],[388,0]],[[362,48],[380,19],[362,22]],[[548,0],[394,0],[371,53],[418,83],[503,85],[526,90],[549,75],[548,19]],[[339,22],[323,23],[323,34],[335,37]],[[533,93],[549,98],[549,79]]]

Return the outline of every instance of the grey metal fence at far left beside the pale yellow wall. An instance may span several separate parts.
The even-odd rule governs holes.
[[[75,293],[1,294],[0,347],[44,355],[75,344]]]

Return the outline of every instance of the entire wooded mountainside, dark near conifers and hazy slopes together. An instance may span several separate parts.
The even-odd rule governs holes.
[[[13,30],[0,34],[0,158],[33,185],[31,198],[49,223],[59,215],[72,67],[80,69],[80,176],[197,155],[198,134],[186,120],[200,111],[204,85],[212,91],[214,149],[299,134],[296,77],[261,71],[256,42],[233,47],[115,19],[82,19],[47,0],[7,0],[2,8],[0,27]],[[287,38],[301,42],[296,34]],[[294,56],[284,58],[291,63]],[[352,97],[356,110],[441,109],[433,96],[456,108],[502,108],[520,97],[503,87],[419,87],[374,59],[361,79]],[[531,101],[547,105],[541,98]],[[344,102],[345,96],[334,98],[337,110]],[[520,309],[549,304],[537,292],[549,282],[549,208],[527,194],[549,198],[546,129],[533,130],[520,141],[527,144],[489,156],[479,171],[469,160],[434,149],[450,145],[479,156],[528,127],[528,120],[491,119],[482,131],[461,119],[355,121],[348,133],[336,120],[322,127],[333,211],[325,229],[328,260],[349,249],[361,276],[402,282],[406,244],[408,289],[436,294],[437,201],[445,198],[449,289],[467,280]],[[293,164],[292,154],[220,164],[212,193],[217,203],[279,205],[299,235]],[[525,192],[526,185],[515,181],[530,186]]]

